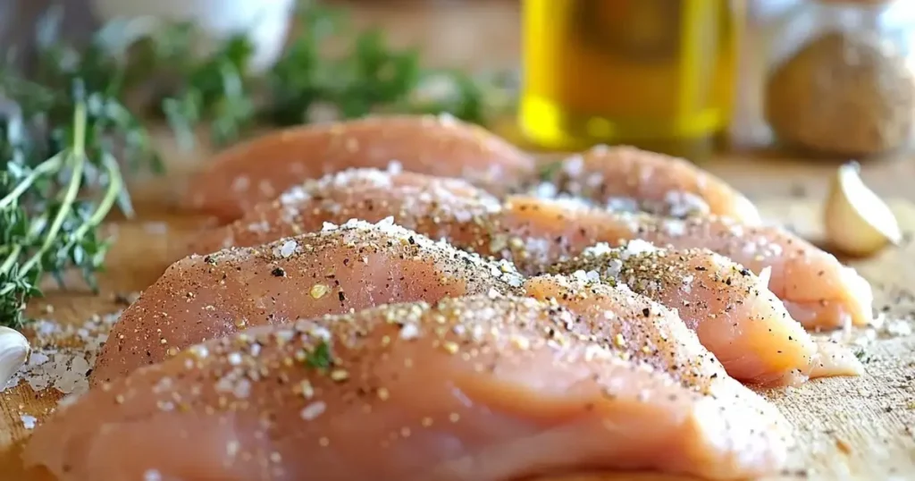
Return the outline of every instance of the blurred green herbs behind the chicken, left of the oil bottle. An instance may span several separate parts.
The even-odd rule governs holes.
[[[485,85],[460,71],[420,66],[414,49],[393,49],[379,30],[356,31],[345,12],[303,2],[296,12],[297,34],[269,71],[253,73],[253,45],[242,35],[226,39],[214,53],[194,60],[194,32],[173,27],[156,43],[183,79],[165,94],[161,108],[178,135],[203,122],[217,145],[231,143],[253,126],[294,126],[323,110],[342,119],[379,112],[442,113],[484,123]],[[177,39],[177,40],[176,40]],[[188,42],[176,47],[176,41]],[[328,44],[343,45],[329,55]],[[155,55],[154,55],[155,57]],[[180,67],[183,66],[183,67]],[[430,94],[429,91],[436,91]]]

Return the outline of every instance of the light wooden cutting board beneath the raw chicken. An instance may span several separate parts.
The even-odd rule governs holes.
[[[93,314],[124,308],[123,294],[142,290],[167,265],[167,248],[199,226],[199,220],[167,213],[171,181],[139,189],[141,215],[135,221],[109,224],[116,241],[102,276],[102,293],[48,291],[29,312],[61,324],[81,324]],[[136,194],[135,194],[136,195]],[[804,199],[758,202],[771,219],[779,219],[807,236],[817,235],[817,202]],[[915,232],[915,204],[893,202],[907,233]],[[868,340],[863,347],[867,374],[855,378],[814,381],[802,388],[765,393],[793,422],[800,441],[792,454],[791,473],[776,479],[822,480],[915,479],[915,335],[903,335],[915,323],[899,321],[915,312],[915,243],[911,235],[899,248],[852,265],[875,287],[877,308],[886,309],[883,327],[848,333]],[[48,308],[50,306],[50,308]],[[53,312],[50,312],[53,310]],[[61,397],[54,389],[35,392],[26,383],[0,393],[0,479],[48,479],[27,473],[18,450],[29,434],[23,416],[45,419]],[[26,418],[27,420],[29,418]],[[661,454],[662,455],[662,454]],[[610,479],[673,479],[670,476],[595,474],[563,481]],[[555,478],[553,481],[559,481]]]

